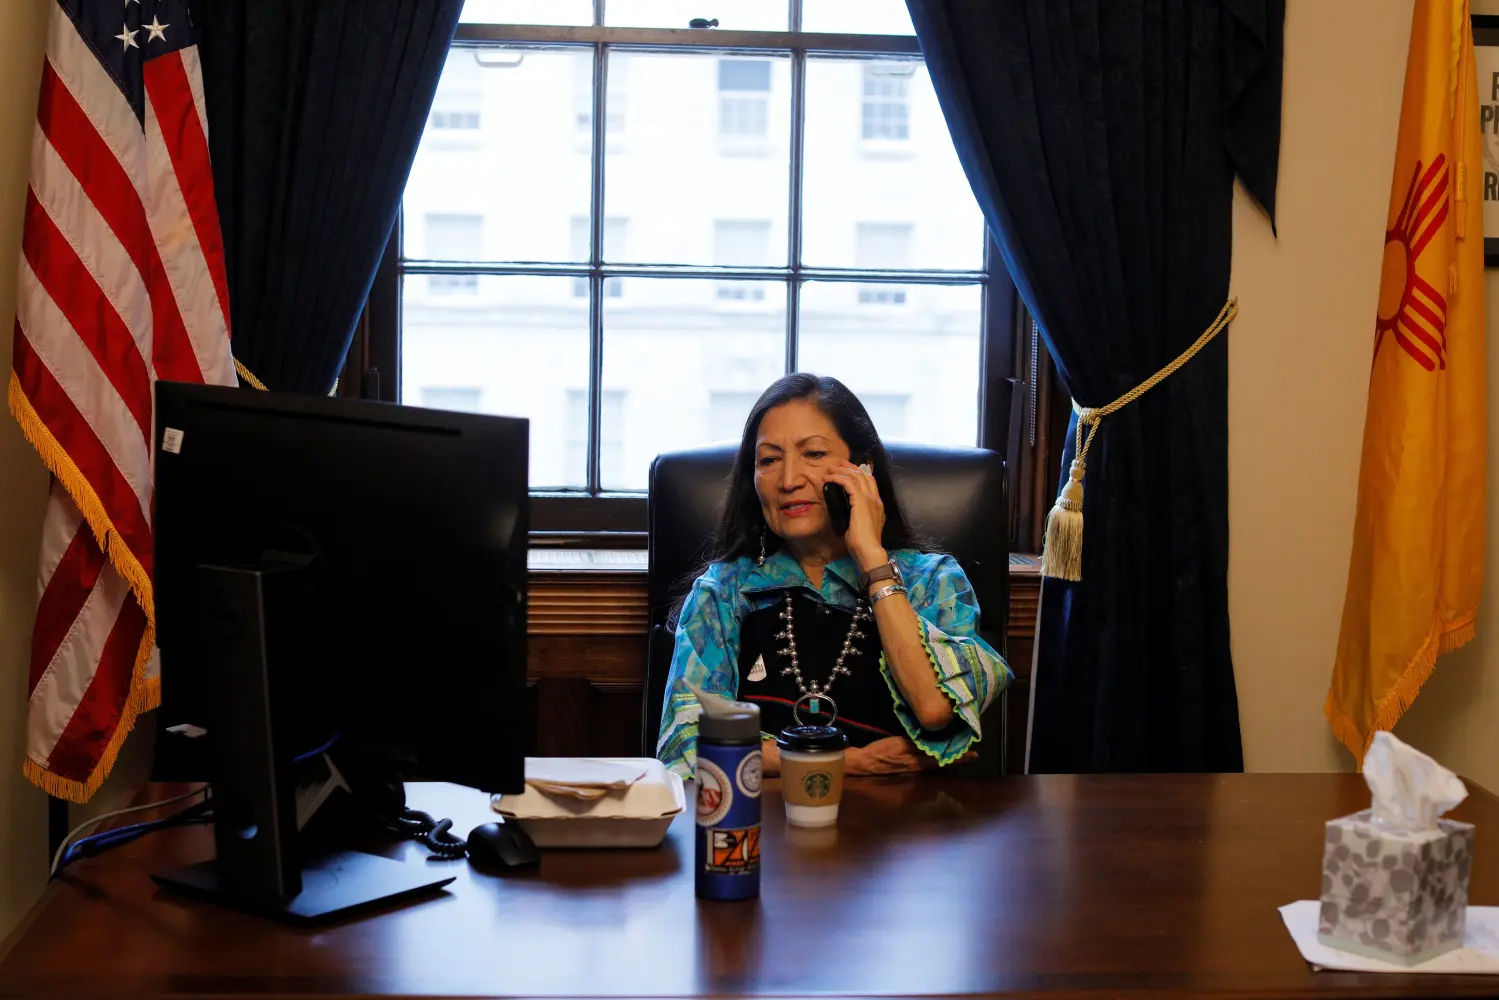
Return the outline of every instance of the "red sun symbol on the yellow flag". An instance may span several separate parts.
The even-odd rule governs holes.
[[[1417,162],[1400,216],[1385,232],[1379,277],[1375,357],[1388,333],[1427,372],[1447,367],[1447,300],[1417,273],[1415,264],[1447,222],[1447,156],[1438,154],[1424,174]]]

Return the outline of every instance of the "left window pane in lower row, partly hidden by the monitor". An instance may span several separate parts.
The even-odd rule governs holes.
[[[406,277],[402,402],[529,417],[531,486],[585,486],[583,451],[570,447],[579,433],[570,393],[588,391],[588,300],[573,297],[568,277],[468,277],[475,292],[457,301],[421,274]]]

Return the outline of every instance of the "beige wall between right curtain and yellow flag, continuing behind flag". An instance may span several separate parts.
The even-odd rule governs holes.
[[[1499,12],[1499,0],[1474,9]],[[1352,766],[1328,732],[1322,700],[1352,546],[1411,10],[1411,0],[1289,4],[1279,240],[1243,192],[1235,204],[1241,313],[1229,342],[1229,604],[1250,771]],[[1499,271],[1489,273],[1487,294],[1499,303]],[[1490,343],[1495,327],[1490,319]],[[1499,414],[1499,405],[1490,411]],[[1490,789],[1499,789],[1496,442],[1492,429],[1490,586],[1480,639],[1439,663],[1396,730]]]

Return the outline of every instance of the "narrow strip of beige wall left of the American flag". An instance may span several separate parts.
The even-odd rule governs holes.
[[[46,37],[45,0],[0,3],[0,373],[9,379],[15,261]],[[21,777],[25,672],[36,612],[36,546],[46,474],[0,415],[0,937],[46,874],[46,799]]]

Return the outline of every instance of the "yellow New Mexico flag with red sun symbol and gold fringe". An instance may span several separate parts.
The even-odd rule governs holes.
[[[1466,0],[1417,0],[1385,231],[1354,556],[1324,711],[1363,765],[1438,655],[1474,637],[1484,573],[1484,234]]]

